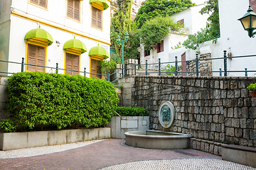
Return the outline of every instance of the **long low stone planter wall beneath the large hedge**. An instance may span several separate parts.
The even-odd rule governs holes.
[[[110,138],[110,128],[0,132],[0,149],[10,150],[26,147],[43,147],[105,138]]]

